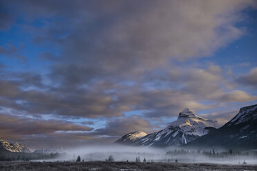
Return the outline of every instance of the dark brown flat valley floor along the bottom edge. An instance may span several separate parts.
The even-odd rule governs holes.
[[[84,170],[84,171],[169,171],[169,170],[257,170],[257,165],[218,165],[209,163],[135,163],[135,162],[0,162],[0,170]]]

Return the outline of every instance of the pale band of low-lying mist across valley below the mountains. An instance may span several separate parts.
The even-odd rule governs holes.
[[[234,150],[186,150],[182,148],[146,148],[118,144],[87,145],[67,149],[54,161],[114,161],[178,162],[178,163],[220,163],[256,164],[257,151]],[[144,160],[145,159],[145,160]],[[53,160],[52,160],[53,161]]]

